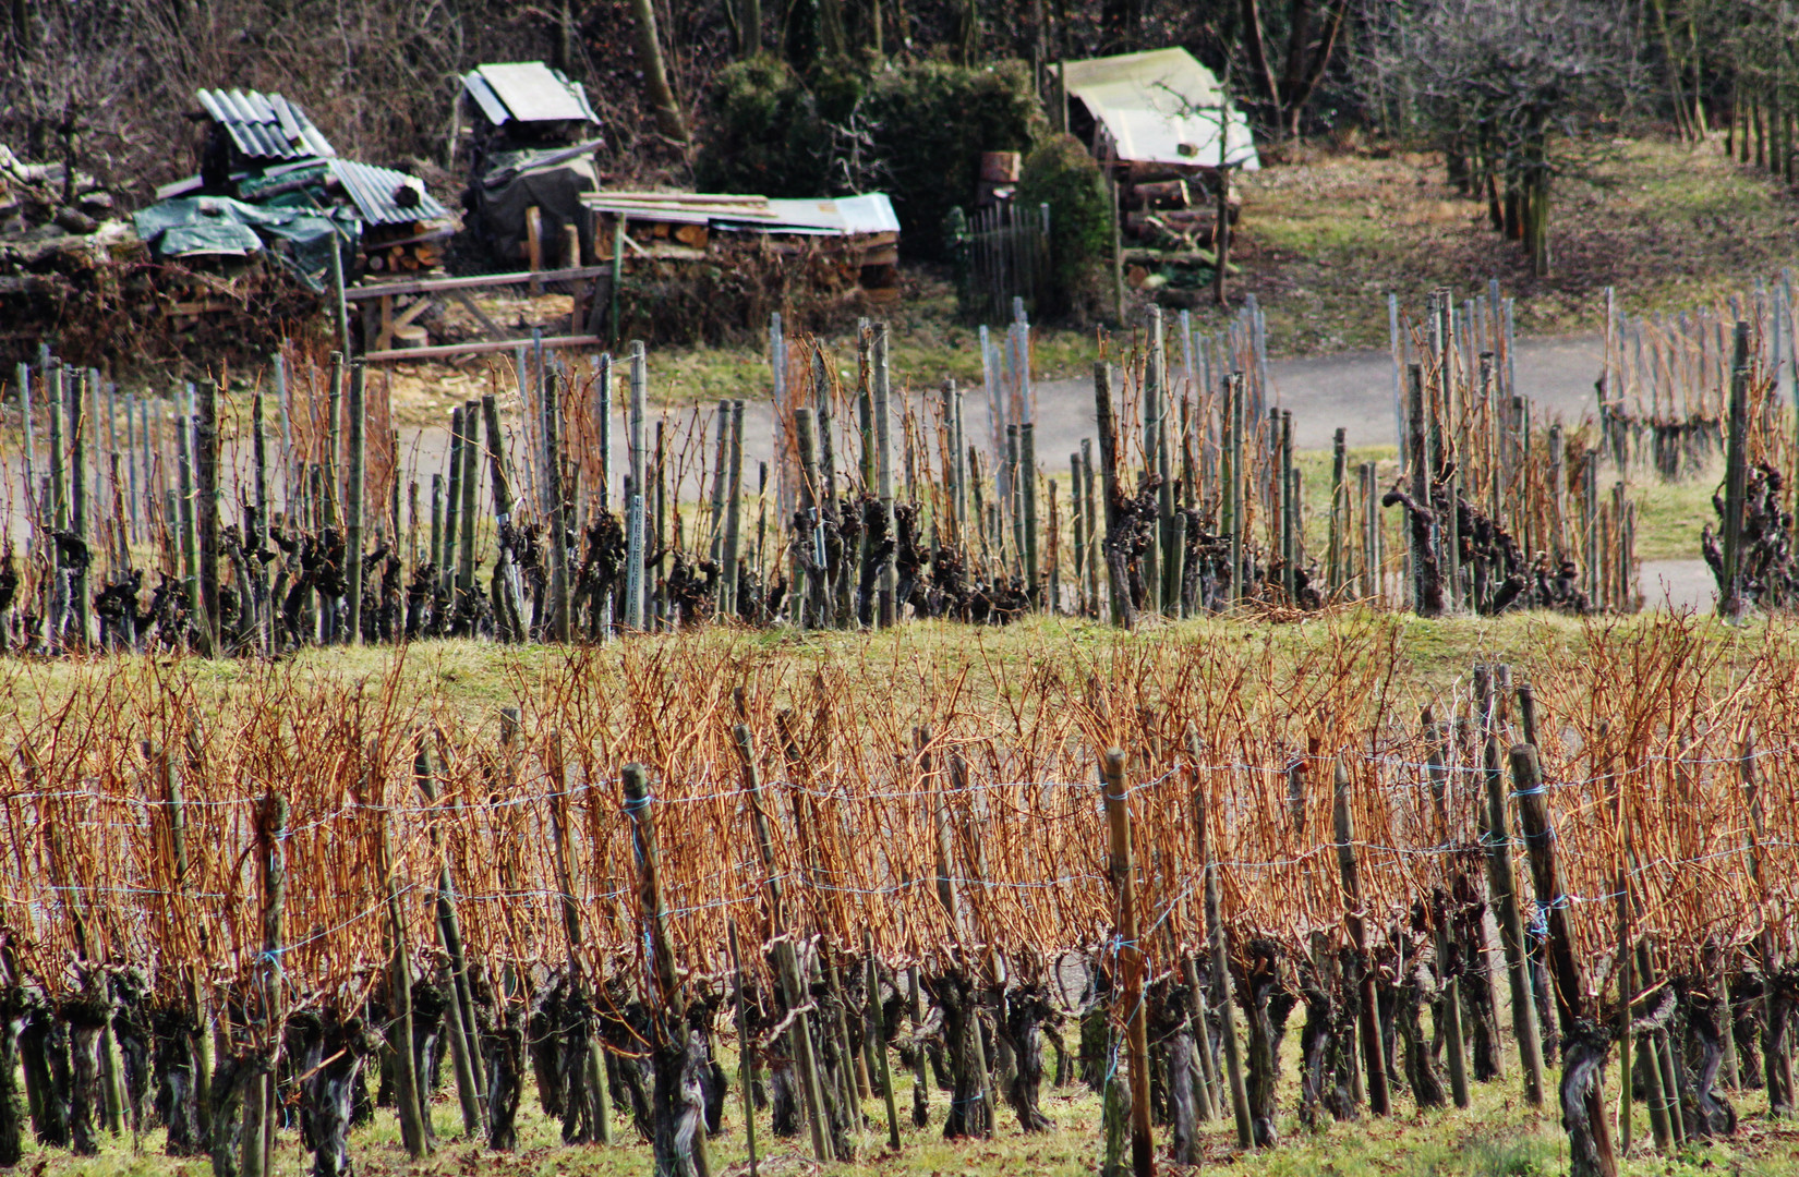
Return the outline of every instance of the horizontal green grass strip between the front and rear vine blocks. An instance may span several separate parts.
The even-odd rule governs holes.
[[[855,690],[891,692],[894,706],[910,706],[932,674],[970,668],[968,690],[1015,688],[1036,667],[1103,667],[1114,654],[1146,645],[1266,643],[1275,663],[1299,661],[1337,649],[1373,649],[1394,642],[1403,661],[1398,677],[1418,692],[1443,690],[1475,661],[1511,661],[1524,667],[1542,658],[1578,654],[1598,640],[1619,640],[1666,618],[1644,613],[1587,622],[1551,613],[1509,613],[1497,618],[1457,616],[1421,620],[1360,606],[1326,615],[1270,624],[1256,615],[1207,616],[1187,622],[1148,620],[1121,633],[1106,624],[1067,616],[1029,616],[1006,627],[970,627],[953,622],[908,622],[878,633],[801,633],[788,627],[745,629],[712,625],[700,633],[653,634],[606,647],[502,647],[480,642],[417,642],[394,647],[306,649],[279,663],[169,659],[166,656],[67,659],[0,659],[0,726],[29,731],[31,724],[76,690],[101,690],[113,674],[157,674],[192,688],[203,713],[216,713],[230,697],[275,690],[284,697],[363,694],[378,697],[392,686],[405,706],[470,726],[497,724],[502,706],[527,713],[545,692],[568,676],[622,681],[624,659],[635,674],[664,667],[669,674],[725,674],[730,679],[774,676],[810,681],[811,668],[835,667]],[[1781,622],[1756,620],[1723,625],[1698,618],[1707,642],[1722,643],[1723,665],[1734,650],[1761,649],[1772,625],[1781,643],[1799,631]],[[126,683],[121,683],[124,686]],[[254,694],[250,697],[255,697]]]

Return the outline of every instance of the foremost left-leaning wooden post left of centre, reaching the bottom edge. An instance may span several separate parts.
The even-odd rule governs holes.
[[[655,1155],[658,1173],[685,1173],[711,1177],[712,1166],[705,1148],[705,1116],[700,1107],[687,1102],[684,1089],[684,1071],[687,1069],[687,1001],[680,990],[680,974],[675,969],[675,945],[669,942],[669,911],[662,895],[662,864],[657,855],[657,812],[649,796],[649,780],[644,765],[626,764],[621,773],[624,783],[624,814],[631,819],[631,837],[637,848],[639,877],[639,915],[642,918],[644,945],[651,954],[651,1010],[653,1010],[653,1049],[657,1055],[653,1114]],[[687,1119],[700,1118],[698,1130],[687,1134],[676,1127],[676,1116]],[[684,1145],[691,1139],[691,1145]],[[687,1155],[682,1155],[687,1152]]]

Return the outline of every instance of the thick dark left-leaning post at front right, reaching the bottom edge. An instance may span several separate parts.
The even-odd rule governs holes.
[[[1612,1148],[1612,1123],[1603,1085],[1610,1042],[1590,1019],[1585,979],[1574,954],[1574,931],[1569,927],[1569,897],[1562,886],[1554,832],[1549,825],[1549,798],[1544,792],[1535,746],[1513,746],[1511,780],[1518,796],[1518,827],[1531,855],[1536,902],[1549,916],[1549,970],[1554,978],[1563,1040],[1562,1123],[1569,1130],[1569,1173],[1616,1177],[1617,1155]]]

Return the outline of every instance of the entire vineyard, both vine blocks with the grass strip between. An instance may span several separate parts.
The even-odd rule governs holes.
[[[1612,1177],[1792,1116],[1788,286],[1608,311],[1583,422],[1497,286],[1389,313],[1400,444],[1310,492],[1254,305],[1101,336],[1065,474],[1022,314],[979,390],[777,320],[768,406],[522,350],[412,435],[342,356],[22,367],[0,1164],[347,1175],[443,1100],[711,1177],[1072,1089],[1112,1177],[1486,1089]],[[1720,458],[1693,555],[1774,613],[1635,616],[1632,489]]]

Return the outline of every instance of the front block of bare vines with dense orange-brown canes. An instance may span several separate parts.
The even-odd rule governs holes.
[[[1747,1089],[1790,1109],[1790,634],[1587,624],[1421,677],[1403,633],[624,643],[520,663],[479,719],[405,659],[228,692],[16,665],[0,1075],[31,1098],[0,1141],[162,1125],[218,1173],[277,1137],[342,1173],[376,1103],[423,1155],[453,1089],[509,1148],[534,1087],[565,1143],[705,1173],[745,1091],[829,1161],[901,1112],[1042,1130],[1076,1082],[1121,1168],[1196,1159],[1214,1118],[1279,1148],[1295,1100],[1502,1084],[1603,1173],[1619,1057],[1660,1148],[1736,1130]],[[901,1069],[914,1109],[882,1100]]]

